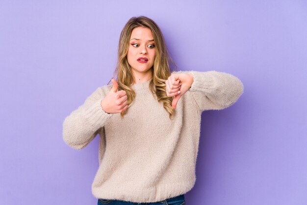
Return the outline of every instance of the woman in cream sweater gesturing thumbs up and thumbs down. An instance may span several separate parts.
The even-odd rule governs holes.
[[[202,112],[227,108],[243,93],[233,75],[170,73],[169,60],[153,20],[131,18],[120,36],[117,81],[64,120],[63,138],[73,148],[100,135],[92,184],[98,204],[184,205],[196,180]]]

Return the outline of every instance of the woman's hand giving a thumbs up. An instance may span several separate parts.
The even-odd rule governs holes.
[[[121,113],[128,108],[128,97],[125,90],[117,91],[118,84],[112,78],[113,86],[110,92],[101,101],[102,110],[107,113]]]

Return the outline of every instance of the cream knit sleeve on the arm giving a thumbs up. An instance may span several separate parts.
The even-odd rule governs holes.
[[[96,89],[83,105],[64,119],[63,139],[67,145],[75,149],[87,146],[112,116],[102,110],[103,98],[102,88]]]

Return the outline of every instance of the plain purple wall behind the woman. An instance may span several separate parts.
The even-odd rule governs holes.
[[[202,115],[187,205],[307,204],[307,1],[2,0],[0,204],[95,205],[98,138],[62,123],[116,63],[121,29],[146,15],[178,70],[237,76],[244,93]]]

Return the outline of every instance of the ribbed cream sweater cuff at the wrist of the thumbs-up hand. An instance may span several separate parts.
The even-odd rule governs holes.
[[[91,107],[84,111],[86,122],[92,126],[94,130],[101,128],[113,115],[102,110],[101,101],[102,99],[97,100]]]

